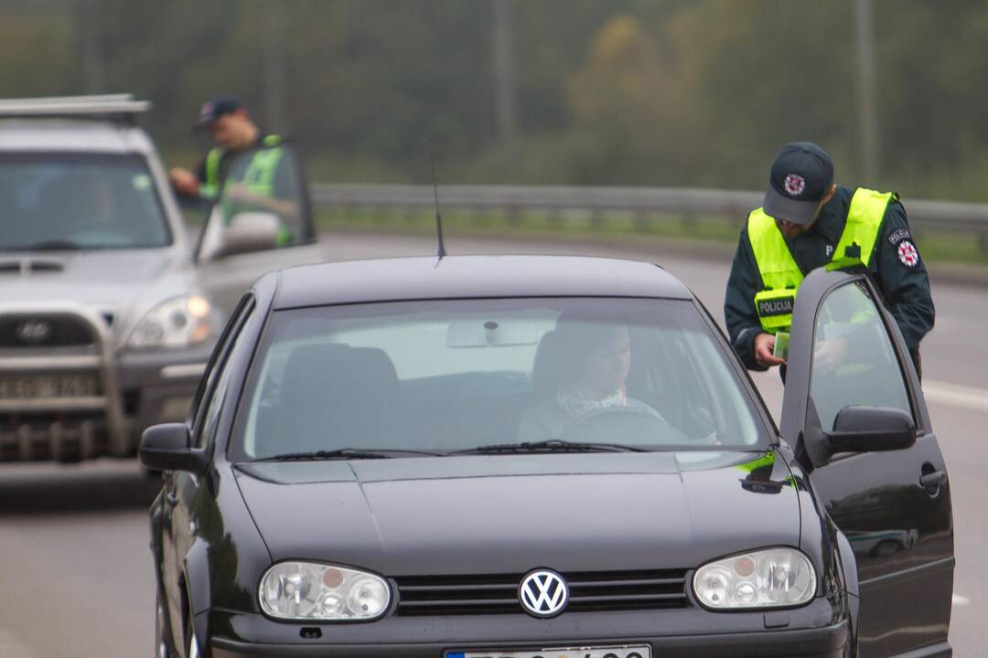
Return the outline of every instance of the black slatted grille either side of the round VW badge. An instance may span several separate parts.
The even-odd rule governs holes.
[[[567,613],[685,608],[686,569],[561,574],[569,586]],[[403,576],[397,614],[521,615],[524,574]]]

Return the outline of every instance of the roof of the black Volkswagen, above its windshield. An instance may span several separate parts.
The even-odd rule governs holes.
[[[664,297],[693,299],[658,265],[590,256],[447,256],[350,260],[290,267],[277,310],[413,299]]]

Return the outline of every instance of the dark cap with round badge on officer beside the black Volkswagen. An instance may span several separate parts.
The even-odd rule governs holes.
[[[812,142],[792,142],[772,163],[763,210],[793,224],[809,224],[834,184],[834,161]]]

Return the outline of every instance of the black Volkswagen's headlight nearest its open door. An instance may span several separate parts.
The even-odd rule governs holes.
[[[693,591],[712,610],[798,606],[813,598],[816,573],[795,548],[769,548],[704,564]]]

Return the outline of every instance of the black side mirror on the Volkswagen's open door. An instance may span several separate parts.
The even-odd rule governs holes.
[[[831,454],[904,450],[916,443],[916,425],[901,409],[845,406],[826,437]]]

